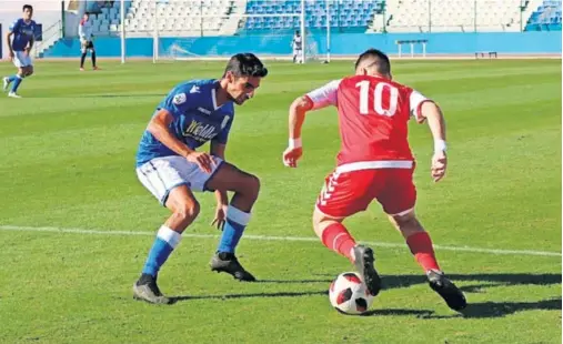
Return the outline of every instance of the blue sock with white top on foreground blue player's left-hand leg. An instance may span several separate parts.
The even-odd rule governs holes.
[[[160,267],[162,267],[170,253],[178,246],[181,239],[182,235],[180,233],[162,225],[157,233],[157,239],[154,239],[154,243],[144,263],[143,274],[157,277]]]

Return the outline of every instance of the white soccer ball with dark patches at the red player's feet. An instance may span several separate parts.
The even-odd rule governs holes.
[[[344,272],[334,279],[329,297],[332,306],[345,314],[365,313],[373,303],[373,296],[355,272]]]

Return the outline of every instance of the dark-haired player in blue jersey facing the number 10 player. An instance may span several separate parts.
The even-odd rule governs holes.
[[[137,175],[141,183],[172,214],[159,229],[133,285],[133,297],[169,304],[157,277],[178,246],[182,232],[195,220],[200,205],[193,192],[214,191],[213,224],[223,233],[211,270],[227,272],[239,281],[255,281],[237,260],[234,250],[250,221],[260,181],[224,160],[234,119],[234,104],[254,95],[268,69],[252,53],[233,55],[220,80],[191,80],[180,83],[157,107],[137,153]],[[211,141],[210,153],[195,151]],[[234,192],[229,203],[227,192]]]

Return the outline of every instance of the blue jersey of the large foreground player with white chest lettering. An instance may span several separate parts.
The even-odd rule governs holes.
[[[173,121],[170,132],[190,149],[195,150],[205,142],[225,144],[234,118],[234,104],[229,101],[217,107],[218,80],[191,80],[180,83],[157,107],[168,110]],[[155,112],[155,113],[157,113]],[[137,152],[137,166],[161,156],[178,155],[148,130],[144,131]]]

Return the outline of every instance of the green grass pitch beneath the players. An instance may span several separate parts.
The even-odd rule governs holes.
[[[416,211],[466,293],[464,316],[424,283],[375,203],[346,224],[379,243],[385,289],[370,316],[330,306],[331,280],[352,266],[306,239],[339,148],[335,111],[308,117],[299,169],[283,168],[281,153],[291,101],[350,73],[350,62],[270,62],[257,97],[237,109],[227,158],[262,181],[238,253],[261,283],[210,272],[219,233],[209,225],[214,198],[202,194],[187,231],[201,236],[184,237],[159,280],[164,293],[187,297],[133,301],[168,215],[137,181],[139,139],[175,83],[220,77],[223,64],[101,62],[80,73],[78,59],[38,62],[24,99],[0,94],[1,343],[561,343],[561,60],[394,64],[395,79],[438,100],[446,117],[443,182],[430,179],[428,127],[411,123],[410,138]],[[0,64],[0,74],[12,72]]]

